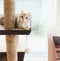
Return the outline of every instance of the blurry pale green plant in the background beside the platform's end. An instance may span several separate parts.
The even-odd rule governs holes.
[[[44,35],[45,33],[45,22],[44,21],[38,21],[34,26],[33,26],[33,31],[37,35]]]

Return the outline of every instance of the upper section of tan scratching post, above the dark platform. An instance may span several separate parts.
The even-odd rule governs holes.
[[[15,28],[15,2],[14,0],[4,0],[4,26],[8,30]]]

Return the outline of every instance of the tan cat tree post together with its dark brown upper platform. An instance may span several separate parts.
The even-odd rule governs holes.
[[[4,27],[0,35],[6,35],[7,61],[17,61],[18,34],[28,35],[31,29],[15,29],[15,0],[4,0]]]

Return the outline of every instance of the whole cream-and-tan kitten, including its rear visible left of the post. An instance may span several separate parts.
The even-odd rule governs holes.
[[[24,13],[24,11],[21,10],[20,15],[16,17],[16,22],[15,22],[16,28],[29,30],[30,18],[31,18],[31,13]],[[0,25],[4,25],[4,17],[0,18]]]

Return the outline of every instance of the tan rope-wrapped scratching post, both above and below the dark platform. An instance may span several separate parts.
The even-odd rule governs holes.
[[[4,26],[7,30],[15,28],[15,2],[4,0]],[[7,61],[17,61],[17,35],[6,35]]]

